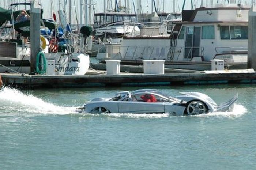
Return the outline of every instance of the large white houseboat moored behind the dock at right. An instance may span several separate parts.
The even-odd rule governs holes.
[[[183,10],[181,22],[167,20],[174,24],[167,29],[170,34],[124,37],[120,51],[113,56],[127,63],[166,60],[172,64],[170,68],[196,70],[211,69],[210,61],[221,59],[229,69],[244,68],[249,9],[228,4]]]

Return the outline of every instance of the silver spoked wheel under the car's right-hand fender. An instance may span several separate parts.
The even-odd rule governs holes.
[[[206,104],[199,100],[189,101],[185,110],[187,115],[204,114],[208,112]]]

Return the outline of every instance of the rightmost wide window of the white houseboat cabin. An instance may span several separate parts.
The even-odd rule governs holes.
[[[248,39],[247,26],[230,26],[231,39]]]

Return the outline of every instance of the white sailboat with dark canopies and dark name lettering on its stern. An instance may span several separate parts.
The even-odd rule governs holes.
[[[0,18],[2,29],[6,23],[10,23],[11,27],[9,29],[12,30],[11,38],[3,38],[2,41],[0,41],[0,72],[35,74],[38,73],[36,70],[30,70],[30,44],[25,44],[22,42],[23,39],[20,38],[20,36],[29,37],[30,21],[27,20],[26,22],[20,23],[15,21],[15,18],[20,13],[20,11],[14,12],[14,8],[17,5],[30,6],[31,3],[11,4],[8,10],[0,8],[0,15],[4,15],[4,17]],[[41,9],[41,26],[44,28],[47,27],[51,31],[51,35],[53,35],[53,30],[57,30],[57,26],[54,22],[42,20],[42,12],[43,10]],[[29,10],[27,10],[27,13],[29,14]],[[16,36],[17,32],[18,36]],[[53,38],[57,39],[57,37],[51,36],[50,40]],[[89,56],[83,54],[80,49],[79,51],[72,51],[74,49],[71,46],[72,41],[69,41],[70,43],[64,52],[58,52],[58,50],[51,50],[52,48],[58,48],[56,43],[53,44],[51,41],[49,42],[45,37],[40,37],[40,39],[41,54],[45,56],[45,60],[41,59],[37,62],[39,62],[41,69],[43,67],[42,65],[44,65],[44,67],[45,65],[46,67],[49,66],[47,71],[45,70],[40,73],[49,73],[50,75],[84,75],[87,72],[89,68]],[[51,70],[49,71],[49,69]]]

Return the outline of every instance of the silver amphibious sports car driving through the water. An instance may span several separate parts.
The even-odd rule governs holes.
[[[181,92],[172,97],[157,89],[121,91],[112,98],[95,98],[80,108],[86,113],[171,113],[195,115],[215,111],[228,111],[238,94],[217,105],[208,95],[199,92]]]

